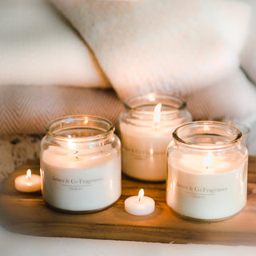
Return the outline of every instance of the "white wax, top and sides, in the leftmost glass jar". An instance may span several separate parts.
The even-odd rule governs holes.
[[[94,152],[95,151],[95,152]],[[94,152],[92,158],[91,153]],[[89,153],[90,154],[86,154]],[[42,196],[60,210],[101,210],[121,195],[121,157],[98,150],[70,150],[50,146],[42,154]]]

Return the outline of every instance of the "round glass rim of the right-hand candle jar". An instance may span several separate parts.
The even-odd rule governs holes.
[[[218,135],[219,134],[214,134],[210,133],[209,130],[207,130],[207,126],[209,129],[209,126],[219,126],[220,129],[230,129],[230,132],[233,131],[234,133],[234,138],[231,138],[227,142],[222,142],[220,144],[213,144],[213,143],[204,143],[204,144],[199,144],[199,143],[194,143],[194,142],[189,142],[188,140],[181,138],[179,135],[183,130],[185,129],[190,129],[190,128],[195,128],[195,127],[202,127],[203,130],[205,130],[205,134],[209,135]],[[183,131],[184,132],[184,131]],[[191,135],[191,134],[190,134]],[[231,126],[230,124],[227,124],[225,122],[218,122],[218,121],[196,121],[196,122],[188,122],[182,126],[178,126],[174,132],[173,132],[173,138],[174,140],[182,143],[182,145],[190,146],[192,148],[197,148],[197,149],[202,149],[202,150],[220,150],[224,149],[226,147],[234,146],[234,144],[240,142],[242,140],[242,132],[238,130],[238,128]]]

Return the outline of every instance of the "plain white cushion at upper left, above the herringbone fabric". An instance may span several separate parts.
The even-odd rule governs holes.
[[[0,1],[0,56],[0,86],[109,86],[86,43],[46,1]]]

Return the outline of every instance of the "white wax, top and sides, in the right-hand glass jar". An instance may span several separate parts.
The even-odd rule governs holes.
[[[166,202],[182,216],[204,220],[230,217],[246,205],[247,158],[215,156],[209,168],[202,155],[168,158]]]

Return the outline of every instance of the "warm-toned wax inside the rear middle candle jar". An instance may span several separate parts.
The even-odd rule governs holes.
[[[172,140],[175,123],[159,122],[156,126],[154,122],[149,122],[146,127],[139,125],[120,124],[122,171],[132,178],[165,181],[166,149]]]

